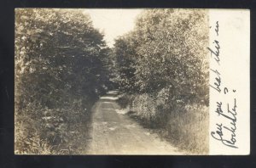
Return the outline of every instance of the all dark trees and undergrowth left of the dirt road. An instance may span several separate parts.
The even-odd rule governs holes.
[[[108,88],[110,52],[82,10],[15,10],[16,153],[42,154],[43,143],[60,153],[72,141]]]

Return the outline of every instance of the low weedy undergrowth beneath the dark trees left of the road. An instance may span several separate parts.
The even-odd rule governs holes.
[[[47,109],[28,104],[15,111],[15,154],[83,154],[91,124],[91,107],[75,99],[73,105]]]

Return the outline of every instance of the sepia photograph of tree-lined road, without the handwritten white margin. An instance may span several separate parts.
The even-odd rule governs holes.
[[[209,27],[209,9],[15,8],[15,154],[209,154]]]

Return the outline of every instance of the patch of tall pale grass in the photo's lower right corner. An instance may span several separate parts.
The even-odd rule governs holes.
[[[208,154],[208,124],[208,107],[188,104],[170,113],[166,137],[192,154]]]

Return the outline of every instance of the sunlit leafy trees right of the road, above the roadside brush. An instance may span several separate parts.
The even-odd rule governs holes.
[[[204,10],[146,9],[115,55],[125,91],[166,90],[169,103],[208,101],[208,28]]]

